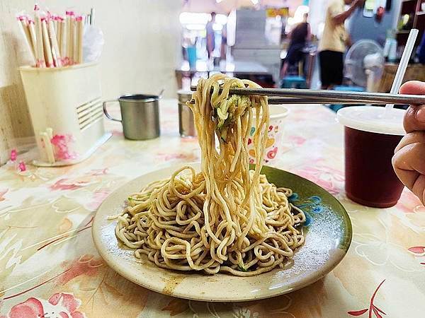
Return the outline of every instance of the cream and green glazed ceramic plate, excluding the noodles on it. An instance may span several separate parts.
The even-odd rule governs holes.
[[[290,172],[263,167],[269,182],[293,189],[290,201],[307,214],[303,228],[305,245],[297,249],[285,269],[243,278],[227,273],[209,276],[160,269],[147,259],[137,259],[132,250],[118,244],[114,232],[117,221],[107,218],[122,211],[128,194],[140,191],[149,182],[169,177],[174,170],[175,166],[167,167],[128,182],[103,201],[94,218],[93,237],[99,254],[112,269],[138,285],[192,300],[237,302],[269,298],[318,281],[339,264],[348,250],[351,222],[334,196]]]

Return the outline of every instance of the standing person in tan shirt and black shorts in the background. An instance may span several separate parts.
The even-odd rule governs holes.
[[[364,0],[331,0],[324,20],[322,39],[319,42],[319,64],[322,89],[342,84],[346,46],[351,40],[344,26],[345,20]],[[351,6],[344,10],[345,4]]]

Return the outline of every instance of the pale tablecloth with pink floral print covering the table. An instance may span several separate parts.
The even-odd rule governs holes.
[[[328,189],[351,216],[348,254],[317,283],[268,300],[196,302],[135,285],[98,256],[91,224],[108,194],[162,165],[199,160],[196,139],[179,137],[176,100],[163,100],[159,139],[127,141],[107,122],[112,139],[83,163],[0,167],[0,317],[425,317],[425,208],[407,190],[393,208],[348,200],[334,117],[290,107],[275,164]]]

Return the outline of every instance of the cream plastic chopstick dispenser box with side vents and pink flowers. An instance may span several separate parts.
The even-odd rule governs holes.
[[[103,128],[97,64],[19,71],[40,153],[35,165],[79,163],[111,137]]]

